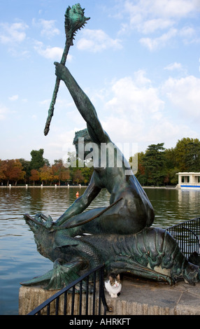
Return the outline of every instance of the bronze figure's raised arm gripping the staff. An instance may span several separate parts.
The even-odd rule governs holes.
[[[87,130],[90,134],[90,137],[94,143],[101,144],[107,143],[109,141],[108,135],[103,131],[101,123],[97,116],[97,112],[94,109],[94,105],[87,97],[85,92],[80,88],[76,80],[73,78],[69,69],[66,66],[55,62],[56,66],[56,75],[60,80],[63,80],[68,88],[71,97],[73,98],[74,103],[81,116],[87,123]]]

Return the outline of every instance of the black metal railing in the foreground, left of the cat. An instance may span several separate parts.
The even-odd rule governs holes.
[[[80,276],[27,315],[101,315],[102,306],[103,315],[105,315],[108,306],[104,295],[103,270],[104,265],[99,265]],[[92,284],[90,284],[90,279],[92,279]],[[99,295],[96,291],[97,285]],[[78,288],[78,293],[76,293],[76,288]]]

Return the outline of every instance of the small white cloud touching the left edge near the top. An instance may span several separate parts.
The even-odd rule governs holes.
[[[0,24],[0,41],[1,43],[22,43],[26,38],[26,29],[28,25],[24,22],[16,22],[13,24]]]

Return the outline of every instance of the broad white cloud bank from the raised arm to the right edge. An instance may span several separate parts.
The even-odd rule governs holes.
[[[164,142],[169,148],[185,136],[198,138],[190,120],[188,124],[177,120],[176,109],[183,116],[186,112],[190,117],[193,113],[199,116],[200,79],[169,78],[164,85],[154,87],[145,71],[137,71],[134,78],[121,78],[111,87],[102,125],[113,142],[138,143],[139,150],[144,151],[150,144]],[[164,97],[170,99],[168,104]]]

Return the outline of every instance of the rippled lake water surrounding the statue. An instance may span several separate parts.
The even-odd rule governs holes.
[[[52,262],[36,251],[34,235],[23,214],[38,212],[54,220],[82,195],[85,188],[0,188],[0,314],[18,314],[20,282],[52,269]],[[200,216],[200,193],[196,190],[145,189],[155,209],[154,225],[166,228]],[[92,207],[109,204],[102,191]]]

